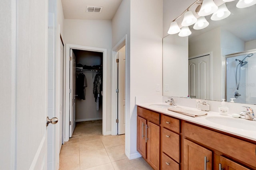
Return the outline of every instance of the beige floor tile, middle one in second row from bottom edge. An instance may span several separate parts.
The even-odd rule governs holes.
[[[93,150],[100,150],[100,149],[104,149],[104,146],[103,146],[102,141],[100,139],[94,140],[94,141],[86,141],[86,142],[80,142],[79,143],[80,153],[90,152],[90,151],[93,151]]]

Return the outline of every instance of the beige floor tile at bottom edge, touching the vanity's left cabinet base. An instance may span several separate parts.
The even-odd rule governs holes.
[[[140,159],[122,159],[112,162],[115,170],[148,170],[146,165]]]

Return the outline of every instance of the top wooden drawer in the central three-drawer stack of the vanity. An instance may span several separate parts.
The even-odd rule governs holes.
[[[161,124],[167,129],[170,129],[176,133],[180,133],[180,120],[178,119],[162,115]]]

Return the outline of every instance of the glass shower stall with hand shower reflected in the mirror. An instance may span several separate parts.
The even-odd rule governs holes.
[[[256,104],[256,50],[226,55],[226,101]]]

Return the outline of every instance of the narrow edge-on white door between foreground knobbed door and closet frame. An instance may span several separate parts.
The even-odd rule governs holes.
[[[63,110],[64,110],[64,45],[60,38],[60,149],[63,144]],[[59,151],[60,151],[59,149]]]

